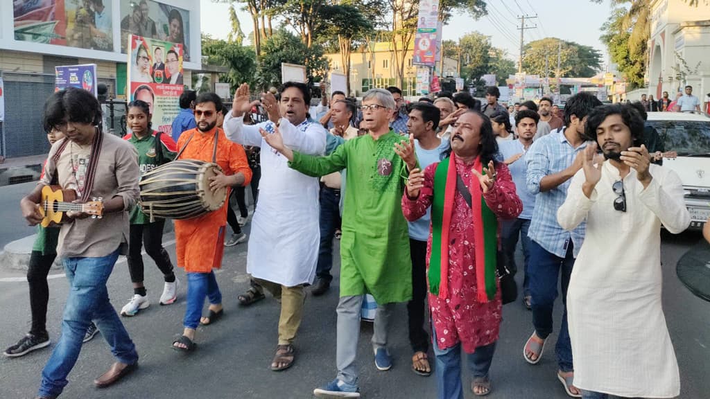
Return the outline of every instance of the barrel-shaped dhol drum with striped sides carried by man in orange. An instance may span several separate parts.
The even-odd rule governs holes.
[[[226,201],[226,188],[209,190],[209,178],[222,171],[217,163],[174,160],[141,177],[141,209],[151,217],[192,219],[216,211]]]

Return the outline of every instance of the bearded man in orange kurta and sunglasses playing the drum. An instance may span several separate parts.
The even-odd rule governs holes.
[[[222,113],[222,99],[214,93],[200,94],[195,100],[195,120],[197,129],[182,133],[178,139],[180,153],[178,159],[212,162],[222,168],[211,177],[210,190],[223,187],[248,185],[251,169],[246,160],[244,148],[227,140],[224,131],[217,128],[218,114]],[[173,349],[192,351],[195,349],[195,330],[202,324],[216,322],[222,310],[222,293],[219,292],[214,269],[222,266],[224,253],[224,228],[228,202],[214,212],[192,219],[175,220],[175,246],[178,252],[178,266],[187,273],[187,309],[182,336],[173,341]],[[209,298],[209,313],[202,315],[204,297]]]

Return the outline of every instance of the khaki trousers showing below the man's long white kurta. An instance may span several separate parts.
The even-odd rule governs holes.
[[[303,285],[285,287],[271,281],[261,280],[261,278],[254,278],[254,280],[263,288],[266,288],[277,300],[281,300],[281,315],[278,319],[278,344],[293,344],[303,318],[303,304],[306,299]]]

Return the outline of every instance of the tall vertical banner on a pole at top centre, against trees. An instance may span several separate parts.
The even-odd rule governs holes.
[[[433,67],[437,63],[439,42],[439,0],[420,0],[417,34],[414,37],[413,65]]]

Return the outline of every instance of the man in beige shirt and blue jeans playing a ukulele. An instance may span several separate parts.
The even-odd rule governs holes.
[[[98,129],[98,100],[82,89],[68,88],[52,94],[44,108],[44,125],[65,133],[52,146],[45,175],[35,190],[21,201],[22,214],[31,225],[42,222],[39,204],[42,189],[53,176],[64,190],[77,192],[77,203],[92,197],[104,199],[101,218],[69,211],[61,225],[57,252],[62,258],[69,297],[62,320],[62,335],[42,371],[38,398],[56,398],[67,385],[67,375],[77,361],[84,333],[94,320],[111,346],[116,362],[94,383],[110,386],[133,371],[138,354],[109,302],[106,287],[119,256],[126,253],[129,214],[138,200],[138,159],[130,143]]]

